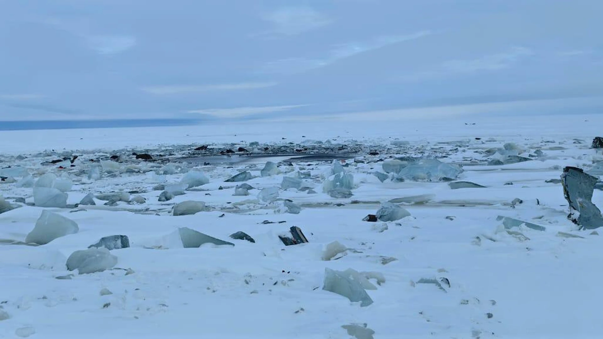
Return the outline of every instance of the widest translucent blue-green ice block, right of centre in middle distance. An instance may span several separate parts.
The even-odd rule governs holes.
[[[443,180],[455,179],[463,168],[459,165],[450,165],[438,159],[420,159],[417,163],[402,168],[397,178],[403,180]]]

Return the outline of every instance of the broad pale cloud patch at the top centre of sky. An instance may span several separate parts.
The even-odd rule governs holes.
[[[332,19],[311,7],[282,7],[262,15],[262,19],[273,26],[271,31],[259,34],[263,36],[271,34],[294,36],[333,22]]]

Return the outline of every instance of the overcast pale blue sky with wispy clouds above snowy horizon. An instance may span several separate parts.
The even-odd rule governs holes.
[[[601,0],[0,7],[0,121],[603,112]]]

